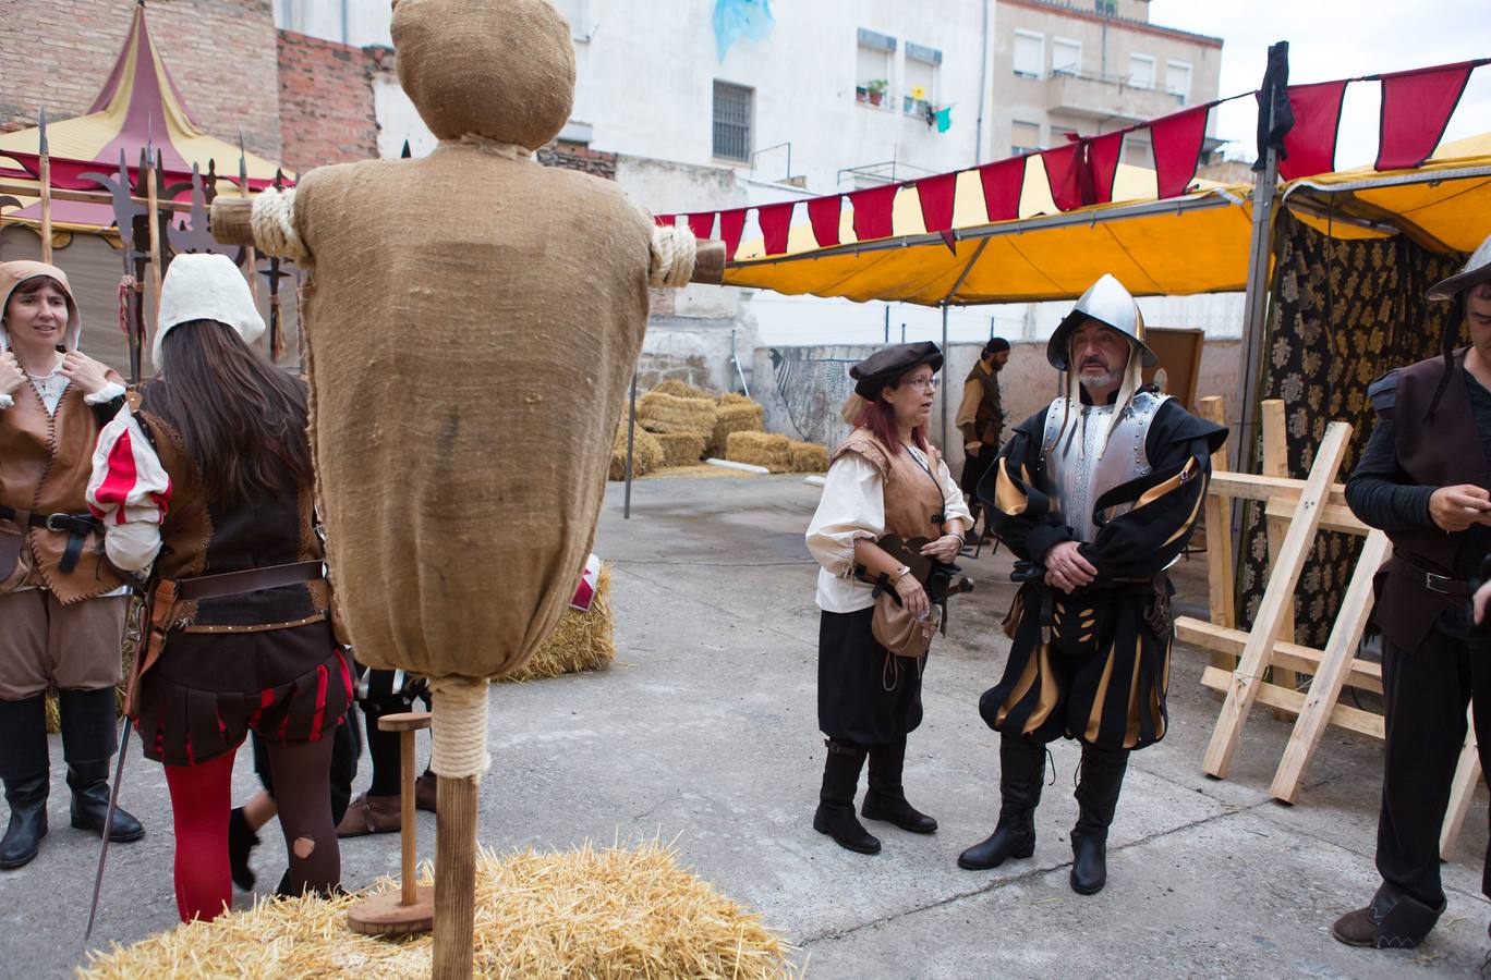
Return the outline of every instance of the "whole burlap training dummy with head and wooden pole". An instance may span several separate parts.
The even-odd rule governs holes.
[[[687,281],[693,240],[665,235],[659,259],[614,183],[534,161],[574,95],[549,3],[397,0],[392,33],[438,147],[315,170],[255,204],[253,237],[312,270],[312,436],[349,639],[435,691],[434,968],[462,976],[486,679],[520,667],[574,594],[649,276]]]

